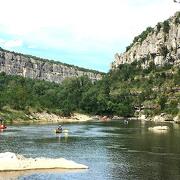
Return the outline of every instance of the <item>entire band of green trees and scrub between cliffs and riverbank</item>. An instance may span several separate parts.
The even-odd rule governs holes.
[[[176,116],[180,102],[180,68],[171,65],[142,69],[141,61],[120,65],[100,81],[88,77],[62,84],[0,74],[0,112],[7,119],[47,111],[69,116],[73,112],[134,116],[160,113]]]

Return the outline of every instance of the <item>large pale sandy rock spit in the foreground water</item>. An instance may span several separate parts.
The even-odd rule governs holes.
[[[31,170],[31,169],[88,169],[64,158],[25,158],[12,152],[0,153],[0,171]]]

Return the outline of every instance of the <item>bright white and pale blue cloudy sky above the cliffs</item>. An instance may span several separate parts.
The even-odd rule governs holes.
[[[180,10],[173,0],[0,0],[0,47],[107,72],[116,52]]]

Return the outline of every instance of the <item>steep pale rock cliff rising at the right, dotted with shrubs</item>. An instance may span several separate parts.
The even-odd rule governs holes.
[[[123,54],[115,54],[112,69],[120,64],[141,61],[146,68],[150,62],[157,66],[164,64],[180,65],[180,12],[158,23],[155,28],[147,28]]]

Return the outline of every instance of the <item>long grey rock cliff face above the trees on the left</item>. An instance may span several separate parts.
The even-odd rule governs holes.
[[[0,49],[0,72],[61,83],[65,78],[87,75],[93,82],[102,73]]]

